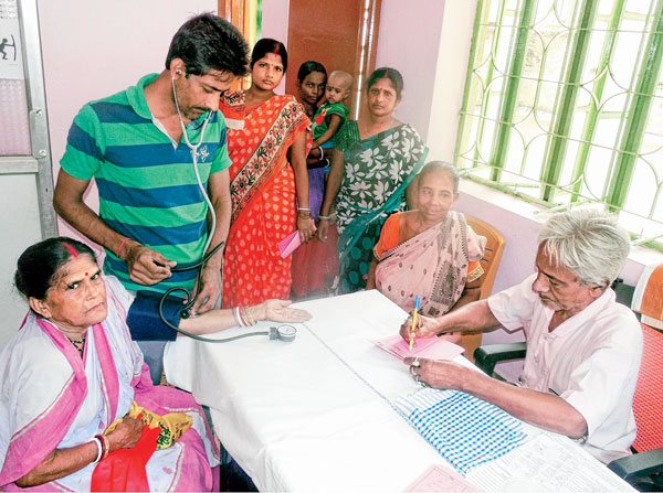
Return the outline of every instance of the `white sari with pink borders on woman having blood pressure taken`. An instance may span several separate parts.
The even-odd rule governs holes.
[[[14,481],[54,449],[91,441],[135,400],[157,414],[193,418],[176,444],[148,461],[150,490],[210,491],[219,450],[202,409],[183,392],[152,386],[125,322],[133,298],[117,279],[105,281],[108,315],[87,330],[83,358],[62,332],[33,313],[0,354],[0,489],[90,491],[95,464],[25,490]]]

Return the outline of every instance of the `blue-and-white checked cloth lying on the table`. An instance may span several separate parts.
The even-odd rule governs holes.
[[[459,390],[422,388],[400,397],[396,407],[463,474],[527,438],[520,421]]]

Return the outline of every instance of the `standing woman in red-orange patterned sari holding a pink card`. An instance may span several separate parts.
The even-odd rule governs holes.
[[[260,40],[251,54],[251,87],[220,103],[233,162],[223,307],[287,299],[291,257],[281,257],[278,242],[295,228],[302,242],[314,233],[306,171],[311,121],[293,96],[274,93],[286,68],[283,43]]]

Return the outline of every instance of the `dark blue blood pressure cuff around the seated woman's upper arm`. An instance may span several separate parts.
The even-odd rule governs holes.
[[[159,303],[164,293],[155,291],[137,291],[136,299],[129,308],[127,325],[134,341],[175,341],[177,331],[166,325],[159,315]],[[179,326],[185,306],[182,298],[168,297],[161,308],[164,318],[175,326]]]

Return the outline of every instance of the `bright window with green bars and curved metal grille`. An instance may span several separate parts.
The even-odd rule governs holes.
[[[463,174],[663,239],[663,0],[478,0]]]

